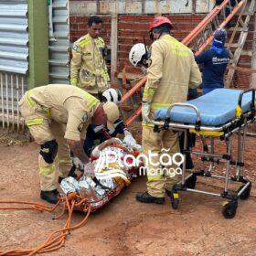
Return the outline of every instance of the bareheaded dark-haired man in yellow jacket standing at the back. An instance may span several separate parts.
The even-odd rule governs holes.
[[[105,62],[107,48],[104,40],[99,37],[102,28],[101,17],[90,16],[88,26],[88,34],[80,37],[72,46],[70,84],[97,96],[110,85]]]

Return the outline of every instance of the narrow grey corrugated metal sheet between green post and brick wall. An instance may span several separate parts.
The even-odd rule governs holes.
[[[49,81],[69,84],[69,3],[53,0],[53,37],[49,38]]]

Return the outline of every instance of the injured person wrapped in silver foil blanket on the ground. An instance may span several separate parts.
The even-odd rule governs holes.
[[[133,160],[140,153],[141,145],[127,144],[117,138],[99,144],[91,153],[89,171],[79,178],[69,176],[61,181],[64,196],[76,192],[87,198],[91,210],[101,208],[137,176],[138,168],[133,165]]]

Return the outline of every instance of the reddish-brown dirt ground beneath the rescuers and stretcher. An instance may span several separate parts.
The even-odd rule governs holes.
[[[0,133],[0,197],[42,203],[38,146],[25,143],[26,139]],[[64,247],[45,255],[256,255],[255,142],[255,137],[247,138],[245,174],[252,180],[251,197],[239,201],[234,219],[223,218],[220,197],[197,193],[180,193],[176,210],[167,197],[165,205],[136,202],[136,193],[145,189],[141,176],[107,206],[91,213],[84,227],[71,231]],[[223,173],[223,166],[219,172]],[[221,191],[219,183],[205,179],[199,179],[197,188]],[[82,218],[76,212],[73,221]],[[0,250],[36,247],[64,221],[64,217],[53,220],[47,212],[0,210]]]

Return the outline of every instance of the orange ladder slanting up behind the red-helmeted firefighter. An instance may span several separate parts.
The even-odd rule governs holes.
[[[211,43],[213,39],[214,32],[217,28],[225,27],[229,21],[232,19],[233,16],[239,13],[240,14],[244,11],[245,6],[247,5],[248,0],[236,0],[234,6],[231,5],[231,0],[224,0],[220,5],[216,5],[211,12],[206,16],[198,25],[195,27],[188,35],[182,40],[182,43],[185,44],[187,47],[191,48],[195,55],[197,56],[200,54],[208,45]],[[255,4],[255,0],[251,0],[251,3]],[[254,5],[253,4],[253,5]],[[225,15],[226,7],[230,8],[229,16]],[[254,7],[253,7],[254,8]],[[252,9],[252,4],[251,4]],[[223,17],[223,21],[220,22],[220,17]],[[250,20],[250,19],[249,19]],[[241,18],[239,19],[240,24],[247,24],[248,22],[242,22]],[[238,54],[237,54],[238,55]],[[121,103],[128,101],[133,94],[140,90],[140,88],[144,85],[146,81],[146,76],[139,80],[133,88],[123,95]],[[138,109],[133,110],[134,113],[130,116],[126,121],[126,125],[129,126],[133,121],[141,114],[142,109],[141,107]]]

